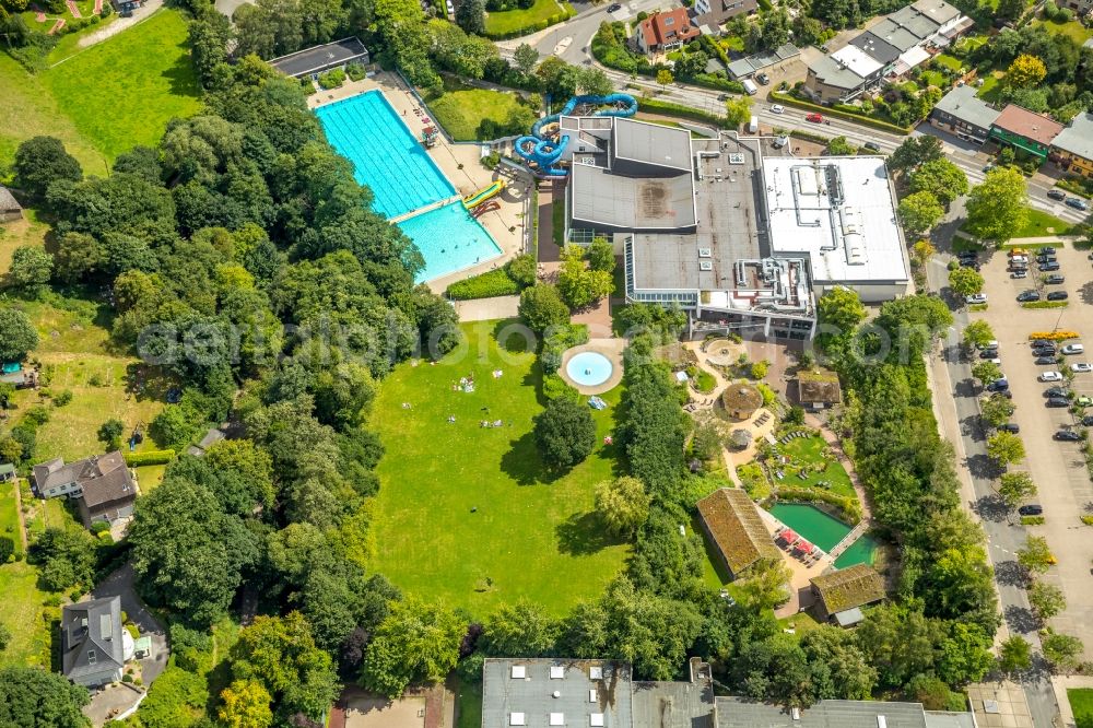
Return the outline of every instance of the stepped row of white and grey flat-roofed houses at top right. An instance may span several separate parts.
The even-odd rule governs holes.
[[[931,58],[974,25],[944,0],[918,0],[886,15],[849,44],[810,63],[804,91],[824,104],[847,102]]]

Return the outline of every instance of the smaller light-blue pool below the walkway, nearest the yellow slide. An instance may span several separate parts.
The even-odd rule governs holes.
[[[421,255],[425,269],[416,283],[454,273],[501,255],[501,248],[462,202],[453,202],[397,223]]]

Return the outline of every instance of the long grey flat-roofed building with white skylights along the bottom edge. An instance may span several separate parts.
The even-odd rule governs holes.
[[[968,712],[920,703],[820,701],[786,708],[714,695],[710,667],[693,657],[683,679],[638,681],[627,662],[543,657],[487,658],[482,728],[975,728]]]

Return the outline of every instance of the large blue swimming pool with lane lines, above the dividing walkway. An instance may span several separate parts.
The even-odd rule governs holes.
[[[327,104],[315,114],[333,148],[353,163],[356,180],[372,188],[376,212],[396,218],[456,193],[381,92]]]

